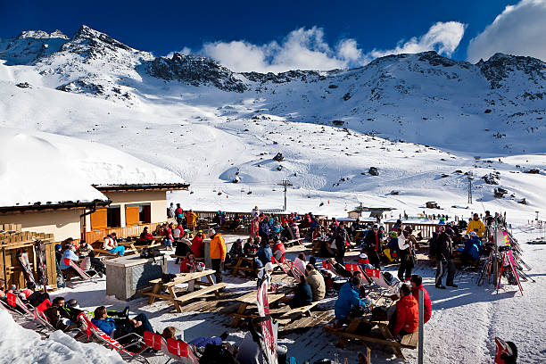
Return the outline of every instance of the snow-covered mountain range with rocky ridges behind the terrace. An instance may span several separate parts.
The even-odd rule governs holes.
[[[219,200],[226,194],[253,206],[285,178],[305,207],[313,196],[399,208],[440,195],[465,201],[465,172],[501,173],[506,203],[543,204],[535,190],[546,161],[528,155],[546,153],[546,64],[534,58],[471,64],[426,52],[352,70],[237,73],[82,26],[70,39],[37,31],[0,40],[0,60],[0,126],[120,148],[185,178],[200,192],[186,201],[201,209],[236,206]],[[476,198],[495,201],[494,188],[476,181]]]

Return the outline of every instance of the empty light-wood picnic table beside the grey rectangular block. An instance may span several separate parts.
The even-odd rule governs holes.
[[[172,304],[174,304],[175,306],[175,309],[178,312],[182,312],[182,310],[180,310],[180,303],[187,302],[196,297],[203,296],[204,294],[208,294],[213,291],[216,295],[216,298],[219,298],[219,290],[224,288],[227,284],[215,284],[212,280],[212,275],[214,273],[215,270],[212,269],[206,269],[201,272],[194,273],[178,273],[176,275],[177,277],[175,277],[172,281],[168,283],[163,283],[161,281],[161,278],[153,279],[150,281],[150,283],[153,285],[152,292],[146,292],[143,294],[150,296],[148,304],[152,304],[156,298],[161,298],[163,300],[172,302]],[[207,278],[207,282],[201,281],[201,278],[203,277]],[[185,294],[177,294],[177,292],[175,291],[175,285],[180,285],[183,283],[191,285],[192,282],[194,285],[203,285],[203,288],[194,291],[182,291],[185,292]],[[161,294],[161,292],[164,290],[166,290],[168,294]]]

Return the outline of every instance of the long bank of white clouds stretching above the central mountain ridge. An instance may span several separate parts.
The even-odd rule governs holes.
[[[436,50],[451,55],[459,45],[465,25],[456,21],[437,22],[425,35],[400,42],[391,50],[364,53],[357,41],[345,38],[331,46],[317,27],[295,29],[282,42],[253,45],[242,40],[205,43],[198,54],[209,56],[230,70],[282,72],[286,70],[332,70],[357,67],[386,54]]]

